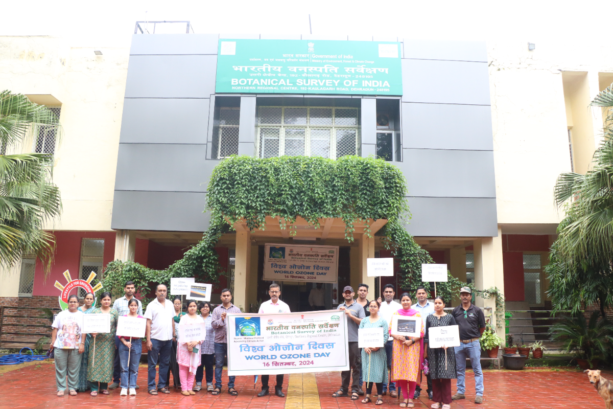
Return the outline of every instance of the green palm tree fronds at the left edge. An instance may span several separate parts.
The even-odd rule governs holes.
[[[57,127],[47,107],[23,94],[0,91],[0,267],[10,269],[23,254],[36,254],[48,272],[55,239],[42,230],[61,211],[59,189],[53,184],[53,154],[15,153],[42,127]]]

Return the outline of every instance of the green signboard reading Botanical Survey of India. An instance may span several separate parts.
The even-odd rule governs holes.
[[[400,43],[219,40],[215,91],[402,95]]]

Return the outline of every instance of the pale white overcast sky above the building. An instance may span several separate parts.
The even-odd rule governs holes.
[[[610,36],[601,0],[5,2],[0,36],[59,36],[72,47],[129,47],[135,21],[189,20],[197,34],[357,34],[411,39],[586,40]]]

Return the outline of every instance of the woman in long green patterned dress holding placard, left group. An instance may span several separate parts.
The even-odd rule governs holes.
[[[115,359],[115,332],[117,330],[117,310],[111,308],[111,293],[105,291],[100,297],[101,307],[92,314],[110,315],[110,332],[91,334],[92,342],[89,350],[87,379],[91,387],[91,396],[109,394],[109,381],[113,378],[113,359]]]

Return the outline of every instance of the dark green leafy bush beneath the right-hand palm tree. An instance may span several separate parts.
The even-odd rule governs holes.
[[[583,314],[565,317],[549,327],[552,340],[562,341],[562,350],[574,353],[581,369],[596,369],[598,361],[611,349],[613,343],[613,324],[599,318],[596,310],[589,321]]]

